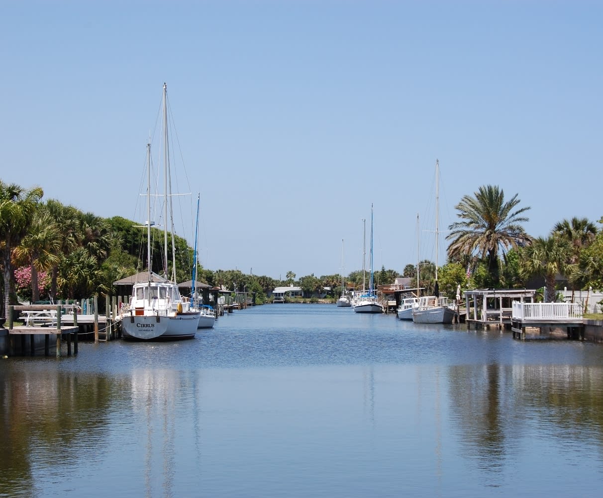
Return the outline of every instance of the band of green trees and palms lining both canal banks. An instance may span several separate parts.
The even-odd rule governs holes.
[[[8,306],[21,299],[81,299],[113,295],[113,283],[147,269],[147,229],[125,218],[106,219],[82,212],[58,200],[43,201],[40,187],[26,189],[0,180],[0,292]],[[556,276],[563,275],[571,289],[603,289],[603,231],[587,219],[573,217],[556,223],[548,237],[534,238],[523,223],[529,207],[520,207],[517,194],[505,200],[499,187],[486,185],[463,196],[455,206],[458,220],[447,235],[447,263],[438,268],[440,293],[454,297],[461,289],[522,288],[531,278],[545,281],[546,301],[554,301]],[[603,223],[603,218],[598,223]],[[171,237],[171,236],[169,236]],[[171,238],[169,239],[171,247]],[[193,254],[185,239],[174,236],[178,282],[191,279]],[[151,267],[171,272],[171,254],[165,258],[163,232],[153,230]],[[168,261],[165,268],[164,261]],[[434,292],[435,263],[418,263],[419,286]],[[256,302],[268,300],[278,286],[295,284],[307,293],[336,297],[344,287],[361,289],[366,275],[355,270],[285,280],[197,267],[197,279],[233,292],[254,292]],[[403,272],[385,269],[374,273],[376,285],[392,284],[398,276],[417,278],[417,266]],[[413,282],[414,284],[414,282]]]

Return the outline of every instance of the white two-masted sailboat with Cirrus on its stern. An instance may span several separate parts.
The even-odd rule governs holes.
[[[172,220],[169,179],[169,153],[168,153],[168,111],[167,111],[167,86],[163,83],[163,140],[164,140],[164,173],[165,173],[165,226],[164,254],[165,271],[168,268],[168,220]],[[133,286],[130,302],[122,309],[121,325],[125,339],[159,340],[159,339],[192,339],[197,332],[199,311],[191,310],[190,301],[180,296],[176,283],[176,261],[174,226],[172,222],[172,275],[171,278],[153,281],[151,271],[151,144],[147,144],[147,261],[148,281],[137,282]],[[168,218],[169,204],[169,218]]]

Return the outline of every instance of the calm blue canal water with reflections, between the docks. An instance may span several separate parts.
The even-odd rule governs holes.
[[[0,360],[0,496],[601,496],[603,346],[268,305]]]

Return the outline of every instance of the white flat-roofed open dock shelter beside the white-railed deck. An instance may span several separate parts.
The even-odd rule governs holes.
[[[490,328],[510,328],[513,302],[534,302],[535,290],[531,289],[475,289],[464,292],[467,307],[467,328],[471,324]]]

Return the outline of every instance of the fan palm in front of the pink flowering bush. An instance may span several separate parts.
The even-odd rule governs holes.
[[[41,205],[31,220],[28,234],[13,251],[15,260],[31,268],[31,300],[34,302],[40,299],[38,272],[49,271],[58,264],[60,247],[60,230]]]

